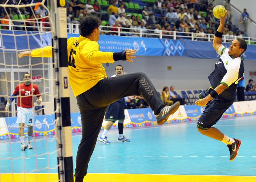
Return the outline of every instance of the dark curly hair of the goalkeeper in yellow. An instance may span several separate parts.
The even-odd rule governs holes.
[[[82,20],[80,20],[79,23],[79,33],[82,36],[87,36],[93,33],[93,30],[95,28],[99,28],[99,25],[101,24],[101,20],[97,16],[86,16]]]

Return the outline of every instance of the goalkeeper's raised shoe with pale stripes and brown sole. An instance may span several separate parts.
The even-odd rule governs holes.
[[[178,101],[174,103],[172,106],[167,106],[162,108],[160,113],[158,115],[155,115],[155,117],[157,118],[157,124],[165,123],[169,118],[169,116],[171,114],[174,114],[174,112],[176,112],[179,107],[180,107],[180,102]]]

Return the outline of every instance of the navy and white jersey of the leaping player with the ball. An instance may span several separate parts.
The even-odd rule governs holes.
[[[219,97],[227,100],[235,99],[238,81],[244,74],[244,58],[231,58],[229,49],[223,48],[221,57],[215,64],[214,71],[208,76],[212,88],[216,88],[219,84],[224,84],[227,89],[223,91]]]

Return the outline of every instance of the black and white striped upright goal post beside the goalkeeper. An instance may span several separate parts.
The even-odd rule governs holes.
[[[57,99],[54,100],[54,104],[56,106],[55,116],[59,181],[74,182],[68,84],[67,10],[65,0],[51,1],[51,16],[54,27],[52,41],[54,46],[53,61],[57,63],[57,67],[54,68],[57,77],[55,83]]]

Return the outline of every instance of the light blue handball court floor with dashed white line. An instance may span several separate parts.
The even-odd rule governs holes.
[[[234,161],[225,144],[200,134],[195,122],[184,122],[124,128],[128,143],[118,143],[118,130],[110,130],[112,144],[97,141],[88,173],[256,176],[256,117],[220,120],[215,126],[242,141]],[[72,136],[74,170],[80,134]],[[21,151],[19,141],[0,141],[0,174],[57,173],[56,139],[32,143],[33,150]]]

